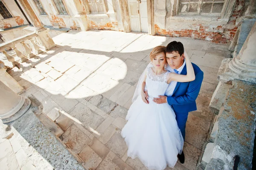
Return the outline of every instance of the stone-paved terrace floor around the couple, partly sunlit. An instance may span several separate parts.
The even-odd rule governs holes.
[[[126,156],[120,131],[152,48],[181,41],[191,61],[204,71],[204,81],[198,110],[189,113],[186,125],[185,163],[178,162],[174,169],[195,169],[213,117],[208,106],[218,84],[218,68],[230,56],[227,45],[115,31],[67,32],[53,40],[57,47],[9,74],[26,89],[23,95],[33,94],[41,101],[41,120],[50,118],[61,127],[64,144],[84,167],[96,170],[146,169],[139,159]]]

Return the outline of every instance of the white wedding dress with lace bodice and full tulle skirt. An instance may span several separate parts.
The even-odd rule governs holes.
[[[149,170],[164,170],[166,164],[175,166],[177,154],[183,149],[183,138],[169,104],[152,101],[165,94],[168,72],[154,75],[151,67],[146,71],[149,104],[145,104],[141,96],[133,102],[121,135],[128,146],[128,156],[139,158]]]

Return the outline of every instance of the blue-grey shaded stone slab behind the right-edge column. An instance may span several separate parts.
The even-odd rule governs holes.
[[[256,21],[255,19],[243,20],[242,21],[239,36],[238,36],[238,40],[237,40],[237,45],[235,47],[235,51],[234,51],[234,54],[233,54],[233,58],[239,54],[242,46],[244,45],[244,42],[245,42],[247,36],[250,33],[250,30],[253,28],[253,25],[254,25],[255,21]]]

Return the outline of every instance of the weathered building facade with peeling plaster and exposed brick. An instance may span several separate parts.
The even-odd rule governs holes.
[[[27,24],[14,1],[3,0],[13,15],[2,20],[3,29]],[[231,43],[246,11],[255,13],[255,9],[248,9],[247,0],[28,0],[28,3],[44,26],[145,32],[215,43]]]

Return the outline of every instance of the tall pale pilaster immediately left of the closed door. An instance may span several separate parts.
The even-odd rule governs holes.
[[[121,16],[122,16],[122,23],[124,27],[124,32],[131,32],[131,24],[130,24],[130,16],[128,11],[128,3],[127,0],[118,0]]]

